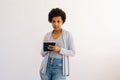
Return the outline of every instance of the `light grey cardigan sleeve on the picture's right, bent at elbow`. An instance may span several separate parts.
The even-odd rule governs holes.
[[[66,48],[61,48],[60,54],[66,55],[66,56],[74,56],[75,55],[75,48],[74,48],[74,41],[71,33],[69,32],[68,35],[66,35],[66,39],[64,44],[66,45]]]

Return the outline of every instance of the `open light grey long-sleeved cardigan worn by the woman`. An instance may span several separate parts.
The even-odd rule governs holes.
[[[69,76],[69,56],[74,56],[75,55],[75,49],[74,49],[74,43],[73,43],[73,38],[70,32],[62,29],[62,34],[63,34],[63,43],[64,47],[61,48],[61,51],[59,52],[60,54],[63,55],[63,75]],[[52,32],[48,32],[45,37],[44,41],[49,41],[50,37],[52,35]],[[47,67],[47,60],[49,57],[49,52],[41,50],[41,55],[44,57],[40,71],[45,74],[46,73],[46,67]]]

